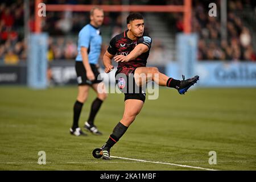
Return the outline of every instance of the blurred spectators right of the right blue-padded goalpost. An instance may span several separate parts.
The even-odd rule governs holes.
[[[220,2],[220,1],[218,1]],[[249,2],[249,1],[247,1]],[[193,31],[199,34],[198,59],[199,60],[250,60],[256,61],[253,48],[252,33],[256,27],[246,27],[243,19],[236,14],[250,9],[250,3],[242,1],[228,1],[228,17],[226,23],[226,39],[221,36],[220,15],[209,16],[208,6],[196,1],[193,9]],[[220,6],[217,6],[220,7]],[[220,12],[220,9],[217,9]],[[255,26],[255,25],[252,25]],[[255,36],[255,35],[254,35]]]

